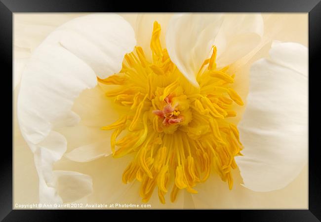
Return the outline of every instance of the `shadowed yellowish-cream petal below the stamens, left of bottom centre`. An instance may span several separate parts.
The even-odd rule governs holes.
[[[77,170],[92,177],[93,193],[88,196],[88,204],[151,204],[151,209],[174,208],[182,209],[185,199],[185,190],[179,191],[174,203],[170,202],[170,190],[166,193],[166,204],[159,201],[157,188],[148,203],[142,202],[139,195],[141,183],[134,181],[123,184],[121,176],[127,165],[135,157],[134,153],[121,158],[114,158],[112,155],[101,157],[90,162],[74,162],[62,158],[55,164],[56,170],[67,169]],[[172,184],[169,185],[172,187]]]

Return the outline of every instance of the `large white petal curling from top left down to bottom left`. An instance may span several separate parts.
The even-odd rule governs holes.
[[[134,45],[133,30],[123,18],[89,15],[57,28],[33,52],[22,75],[17,113],[22,135],[34,152],[40,202],[63,201],[53,183],[52,164],[67,144],[52,130],[79,122],[79,115],[71,111],[74,100],[97,84],[96,74],[119,72],[124,54]]]

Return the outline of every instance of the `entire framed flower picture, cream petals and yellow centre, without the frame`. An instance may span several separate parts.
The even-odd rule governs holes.
[[[306,14],[17,14],[14,202],[307,207],[306,45]]]

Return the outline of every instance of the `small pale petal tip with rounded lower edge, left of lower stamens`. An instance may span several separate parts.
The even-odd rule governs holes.
[[[110,133],[111,134],[111,133]],[[93,144],[81,146],[65,154],[67,158],[77,162],[88,162],[102,156],[111,154],[110,137],[106,140],[98,141]]]

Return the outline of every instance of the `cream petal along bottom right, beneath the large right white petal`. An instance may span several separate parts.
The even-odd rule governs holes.
[[[198,184],[197,194],[191,194],[196,209],[307,209],[307,167],[283,189],[255,192],[244,186],[238,169],[233,170],[233,189],[217,174]],[[298,192],[299,190],[299,192]]]

